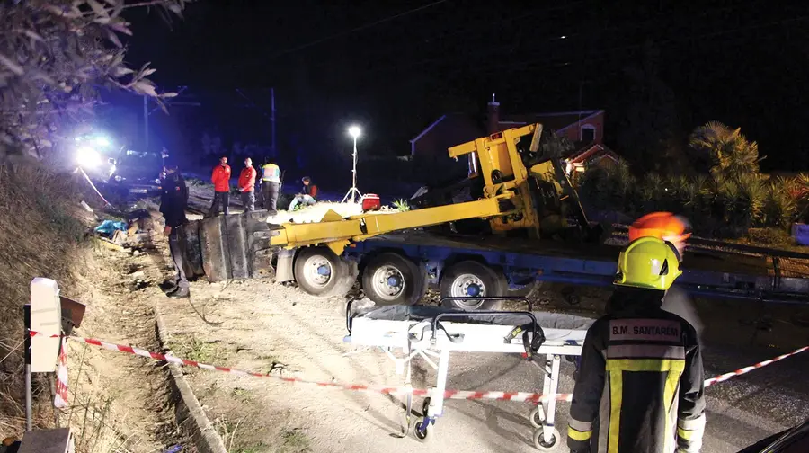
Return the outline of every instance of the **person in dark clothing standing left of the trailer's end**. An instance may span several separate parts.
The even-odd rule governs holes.
[[[177,171],[177,164],[171,161],[165,164],[165,180],[160,193],[160,212],[165,218],[164,235],[169,238],[169,250],[172,253],[174,268],[177,270],[177,277],[173,284],[166,290],[169,298],[188,298],[188,279],[183,268],[182,250],[177,235],[177,228],[188,223],[185,217],[185,209],[188,207],[188,186],[182,178],[182,174]]]

